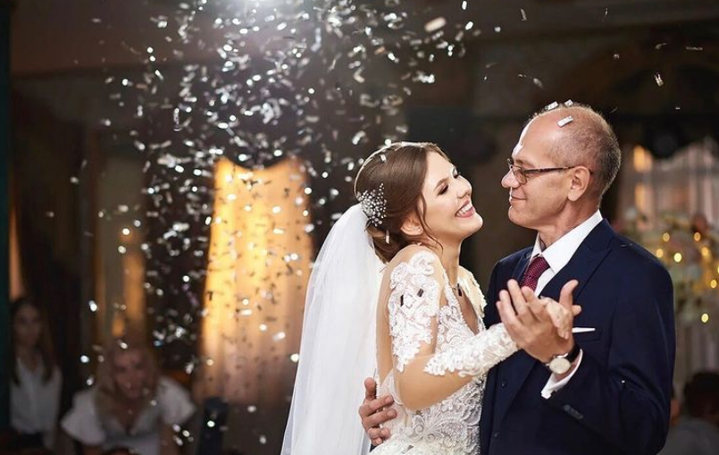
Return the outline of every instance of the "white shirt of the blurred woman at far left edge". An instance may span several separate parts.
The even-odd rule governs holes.
[[[15,383],[13,379],[10,381],[11,426],[19,433],[43,434],[43,443],[47,449],[52,449],[63,384],[60,370],[54,367],[46,382],[42,361],[35,370],[25,367],[20,358],[16,359],[15,365],[20,383]]]

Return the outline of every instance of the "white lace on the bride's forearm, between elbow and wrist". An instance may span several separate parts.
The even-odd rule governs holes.
[[[456,349],[436,353],[427,362],[424,372],[437,376],[447,372],[457,372],[460,376],[486,375],[489,368],[516,351],[517,345],[506,333],[505,325],[495,324]]]

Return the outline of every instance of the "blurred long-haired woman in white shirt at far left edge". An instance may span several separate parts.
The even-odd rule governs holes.
[[[47,318],[27,297],[13,301],[10,316],[10,448],[52,450],[63,379],[54,361]]]

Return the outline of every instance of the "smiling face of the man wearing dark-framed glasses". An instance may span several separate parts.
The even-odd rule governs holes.
[[[563,139],[556,123],[560,119],[561,115],[548,113],[527,124],[512,152],[515,166],[540,169],[567,165],[550,152],[556,141]],[[509,190],[509,220],[536,231],[556,224],[567,205],[571,182],[567,171],[527,174],[525,183],[507,171],[502,186]]]

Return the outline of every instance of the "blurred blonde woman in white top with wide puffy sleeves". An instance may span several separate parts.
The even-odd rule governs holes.
[[[195,405],[180,384],[159,375],[144,342],[113,339],[96,379],[93,387],[75,395],[62,424],[85,455],[119,447],[141,455],[179,453],[172,426],[184,424]]]

